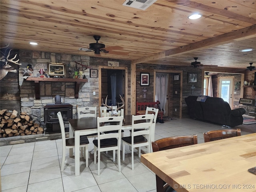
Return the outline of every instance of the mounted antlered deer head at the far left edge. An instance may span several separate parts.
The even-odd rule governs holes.
[[[10,52],[11,52],[11,49],[9,50],[8,54],[6,54],[7,52],[7,49],[6,50],[3,50],[4,48],[8,47],[8,45],[4,46],[4,47],[1,47],[1,58],[0,58],[0,61],[1,61],[1,65],[0,65],[0,80],[2,78],[4,78],[8,72],[14,72],[16,73],[17,70],[14,69],[12,66],[10,66],[8,63],[14,63],[14,64],[17,64],[17,65],[21,65],[21,63],[18,63],[20,59],[17,59],[16,61],[14,61],[14,59],[16,58],[17,54],[15,54],[14,58],[9,58],[10,56]],[[3,51],[2,51],[3,50]]]

